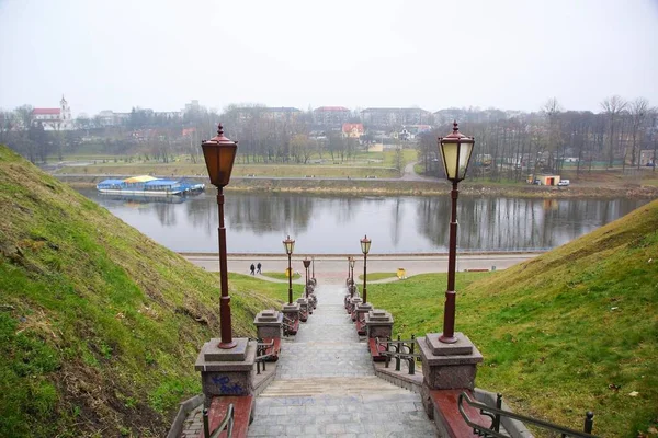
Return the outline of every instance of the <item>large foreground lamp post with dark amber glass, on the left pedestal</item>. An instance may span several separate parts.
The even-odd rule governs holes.
[[[217,136],[201,143],[203,158],[208,169],[211,183],[217,187],[217,207],[219,209],[219,283],[222,298],[219,299],[219,318],[222,341],[219,348],[234,348],[237,344],[232,341],[230,322],[230,297],[228,296],[228,270],[226,263],[226,228],[224,227],[224,187],[230,180],[238,142],[224,137],[222,124],[217,127]]]

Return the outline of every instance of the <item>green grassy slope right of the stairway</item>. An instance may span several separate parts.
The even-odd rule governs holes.
[[[445,284],[372,285],[368,299],[404,336],[440,332]],[[580,428],[592,410],[597,435],[646,431],[658,422],[658,201],[510,269],[460,274],[456,328],[485,356],[477,385],[518,411]]]

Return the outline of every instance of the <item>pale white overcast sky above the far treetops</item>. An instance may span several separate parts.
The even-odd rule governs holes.
[[[658,0],[0,0],[0,107],[658,105]]]

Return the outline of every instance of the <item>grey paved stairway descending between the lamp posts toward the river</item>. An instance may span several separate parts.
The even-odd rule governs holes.
[[[432,437],[420,395],[375,377],[343,308],[344,288],[318,286],[318,307],[282,345],[276,377],[256,400],[250,437]]]

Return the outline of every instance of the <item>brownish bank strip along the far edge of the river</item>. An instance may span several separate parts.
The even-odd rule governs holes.
[[[129,175],[53,175],[73,187],[95,187],[99,182],[110,177]],[[190,176],[209,185],[205,177]],[[359,194],[374,196],[435,196],[446,195],[451,186],[445,181],[404,181],[376,178],[264,178],[232,177],[227,192],[273,192],[307,194]],[[615,184],[572,184],[569,187],[546,187],[536,185],[497,184],[484,182],[463,182],[461,196],[517,197],[517,198],[658,198],[658,187],[620,181]]]

